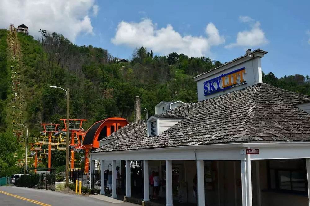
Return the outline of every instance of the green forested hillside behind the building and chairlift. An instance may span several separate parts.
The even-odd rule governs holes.
[[[66,117],[65,92],[50,85],[70,88],[70,118],[87,119],[84,125],[87,129],[107,117],[133,120],[135,96],[141,96],[141,107],[147,108],[149,114],[154,113],[155,105],[162,100],[197,101],[197,85],[192,77],[221,65],[207,57],[192,58],[177,53],[153,56],[144,47],[133,52],[129,63],[117,63],[107,50],[77,46],[61,34],[40,32],[39,40],[18,33],[25,97],[23,121],[29,127],[30,142],[38,136],[41,123],[61,123],[59,119]],[[15,172],[10,168],[14,168],[13,153],[17,149],[10,112],[6,109],[12,92],[6,38],[7,31],[0,30],[0,176]],[[263,81],[310,95],[308,76],[276,78],[269,73],[263,75]],[[53,156],[52,167],[63,164],[64,158]]]

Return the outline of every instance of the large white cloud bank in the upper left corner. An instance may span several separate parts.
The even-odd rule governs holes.
[[[0,27],[25,24],[30,35],[39,29],[63,34],[75,41],[80,33],[93,34],[89,13],[98,12],[95,0],[1,0]]]

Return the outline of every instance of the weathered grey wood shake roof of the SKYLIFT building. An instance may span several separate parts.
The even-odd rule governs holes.
[[[295,104],[310,97],[259,83],[162,115],[183,117],[159,136],[147,137],[146,120],[132,122],[93,152],[253,141],[310,141],[310,114]]]

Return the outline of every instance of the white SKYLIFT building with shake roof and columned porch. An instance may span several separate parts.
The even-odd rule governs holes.
[[[120,160],[126,165],[143,161],[143,200],[150,201],[148,177],[158,170],[166,183],[160,193],[166,206],[174,201],[199,206],[308,205],[310,97],[262,83],[261,57],[266,53],[247,51],[198,75],[197,103],[126,125],[102,140],[91,162],[112,161],[116,166]],[[192,195],[195,174],[197,199]],[[126,167],[127,197],[130,185]]]

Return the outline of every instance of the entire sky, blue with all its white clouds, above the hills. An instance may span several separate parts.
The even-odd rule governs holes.
[[[23,23],[35,37],[47,29],[126,59],[140,46],[221,62],[260,48],[268,51],[263,71],[282,77],[310,75],[309,7],[309,0],[1,0],[0,28]]]

